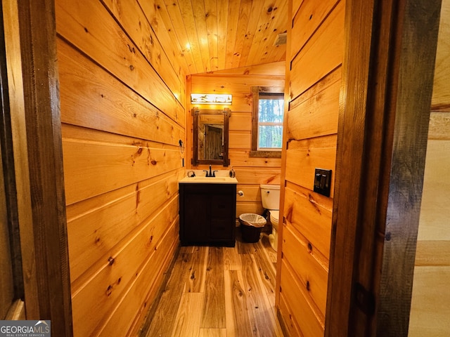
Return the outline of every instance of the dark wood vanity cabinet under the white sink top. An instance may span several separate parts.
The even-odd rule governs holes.
[[[182,246],[234,246],[236,184],[180,183]]]

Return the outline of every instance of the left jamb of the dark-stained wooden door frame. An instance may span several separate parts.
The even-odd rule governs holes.
[[[2,1],[15,178],[18,256],[26,319],[50,319],[54,336],[72,336],[55,3]],[[4,57],[4,56],[3,56]]]

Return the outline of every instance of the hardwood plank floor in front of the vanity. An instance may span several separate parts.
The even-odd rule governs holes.
[[[276,251],[266,233],[255,244],[237,236],[232,248],[180,248],[141,337],[283,336],[274,310]]]

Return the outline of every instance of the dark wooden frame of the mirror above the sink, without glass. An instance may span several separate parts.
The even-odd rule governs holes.
[[[229,119],[231,116],[231,110],[228,107],[224,109],[217,110],[207,110],[204,109],[202,112],[207,114],[223,114],[224,115],[224,158],[223,159],[198,159],[198,116],[200,114],[200,107],[193,107],[192,110],[193,116],[193,156],[191,164],[192,166],[198,166],[200,164],[211,164],[211,165],[223,165],[229,166],[230,159],[228,158],[228,140],[229,140]]]

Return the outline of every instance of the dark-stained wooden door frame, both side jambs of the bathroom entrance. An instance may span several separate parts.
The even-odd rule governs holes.
[[[347,0],[326,336],[407,335],[440,2]],[[25,114],[13,142],[27,154],[15,173],[29,177],[27,319],[72,336],[54,15],[54,1],[18,1]]]

